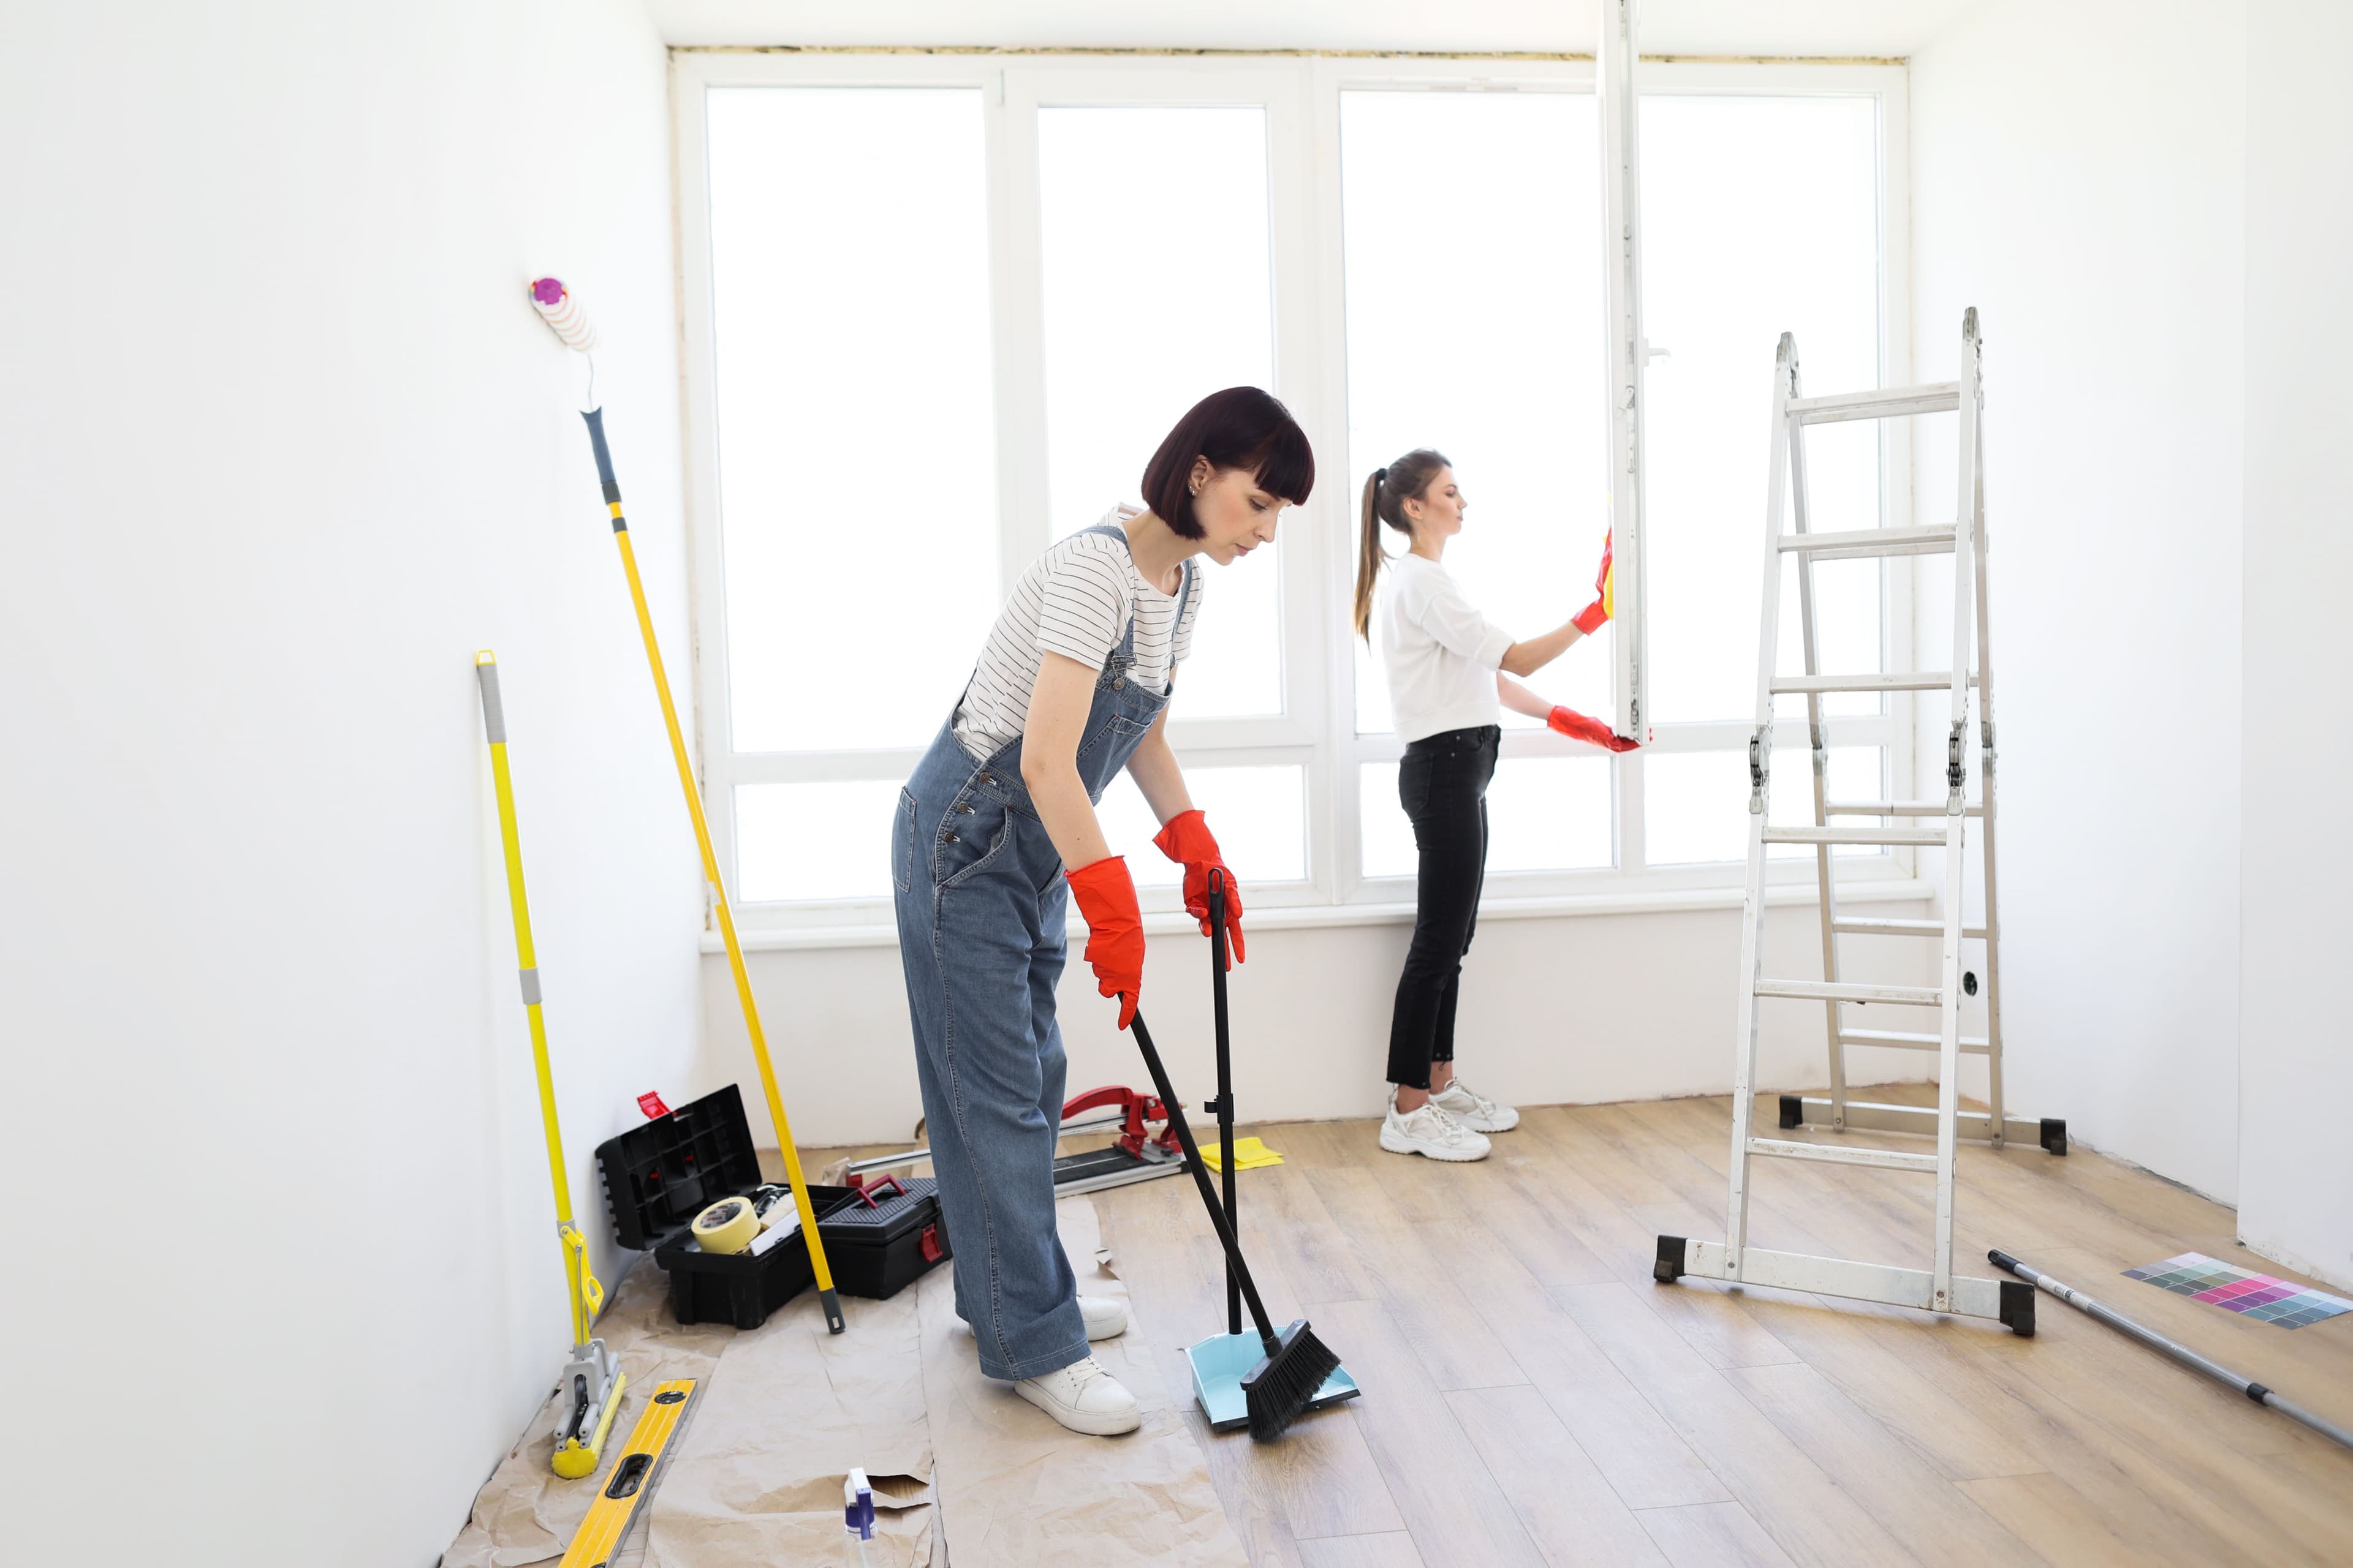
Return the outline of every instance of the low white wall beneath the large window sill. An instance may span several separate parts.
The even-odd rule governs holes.
[[[1739,809],[1734,804],[1734,809]],[[1875,903],[1873,914],[1927,905]],[[1245,922],[1247,924],[1247,922]],[[1377,1117],[1388,1081],[1388,1011],[1407,924],[1259,929],[1233,971],[1235,1100],[1245,1119]],[[1739,971],[1739,910],[1671,914],[1482,917],[1464,966],[1457,1060],[1482,1093],[1522,1105],[1652,1100],[1729,1093]],[[1134,1041],[1071,945],[1059,990],[1071,1093],[1101,1084],[1148,1088]],[[1852,950],[1849,950],[1852,952]],[[1927,961],[1894,950],[1861,978],[1922,985]],[[1191,1100],[1217,1086],[1209,957],[1198,931],[1151,926],[1144,1018]],[[1814,905],[1767,914],[1765,971],[1821,973]],[[896,947],[753,952],[786,1114],[802,1145],[906,1138],[922,1105]],[[1777,1004],[1762,1013],[1760,1088],[1828,1081],[1821,1013]],[[753,1084],[727,959],[704,959],[704,1058],[692,1088]],[[1859,1084],[1920,1079],[1913,1051],[1854,1051]],[[746,1100],[753,1095],[746,1093]],[[755,1135],[767,1117],[753,1107]]]

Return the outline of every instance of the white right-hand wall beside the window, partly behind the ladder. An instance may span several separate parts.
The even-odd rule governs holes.
[[[2240,0],[2009,0],[1911,63],[1920,378],[1953,376],[1965,306],[1986,334],[2012,1110],[2221,1199],[2238,1187],[2242,61]],[[1953,517],[1946,425],[1920,447],[1929,522]],[[1920,663],[1944,668],[1934,607],[1922,590]]]

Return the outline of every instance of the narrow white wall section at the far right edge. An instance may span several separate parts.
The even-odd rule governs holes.
[[[2247,5],[2240,1237],[2353,1286],[2353,9]]]

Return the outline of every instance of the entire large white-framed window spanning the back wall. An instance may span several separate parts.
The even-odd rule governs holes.
[[[1315,496],[1278,550],[1207,569],[1172,738],[1254,910],[1407,900],[1402,743],[1348,625],[1358,498],[1438,447],[1471,501],[1447,567],[1492,621],[1534,635],[1591,597],[1593,68],[682,52],[678,82],[701,752],[746,924],[887,922],[892,799],[1012,576],[1139,501],[1176,416],[1235,383],[1306,425]],[[1737,882],[1774,341],[1798,334],[1807,390],[1908,371],[1901,71],[1645,66],[1642,92],[1647,625],[1527,684],[1609,717],[1635,637],[1657,741],[1609,757],[1506,715],[1489,900]],[[1814,527],[1897,510],[1899,433],[1809,437]],[[1821,569],[1831,668],[1908,637],[1904,569]],[[1897,790],[1901,712],[1831,712],[1833,792]],[[1172,910],[1125,780],[1104,823]]]

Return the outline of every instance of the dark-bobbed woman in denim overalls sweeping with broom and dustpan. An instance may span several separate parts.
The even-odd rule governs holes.
[[[1141,1415],[1087,1354],[1087,1340],[1127,1328],[1127,1309],[1078,1295],[1054,1234],[1064,914],[1078,898],[1085,959],[1096,990],[1120,999],[1125,1030],[1144,985],[1144,922],[1094,804],[1127,769],[1162,823],[1153,844],[1184,865],[1202,933],[1209,872],[1226,872],[1228,940],[1242,959],[1242,900],[1186,797],[1167,703],[1200,614],[1193,557],[1224,567],[1273,543],[1275,517],[1313,484],[1308,437],[1268,393],[1202,397],[1144,470],[1148,510],[1115,508],[1021,574],[965,696],[899,792],[899,959],[955,1239],[955,1312],[981,1371],[1073,1432],[1132,1432]]]

